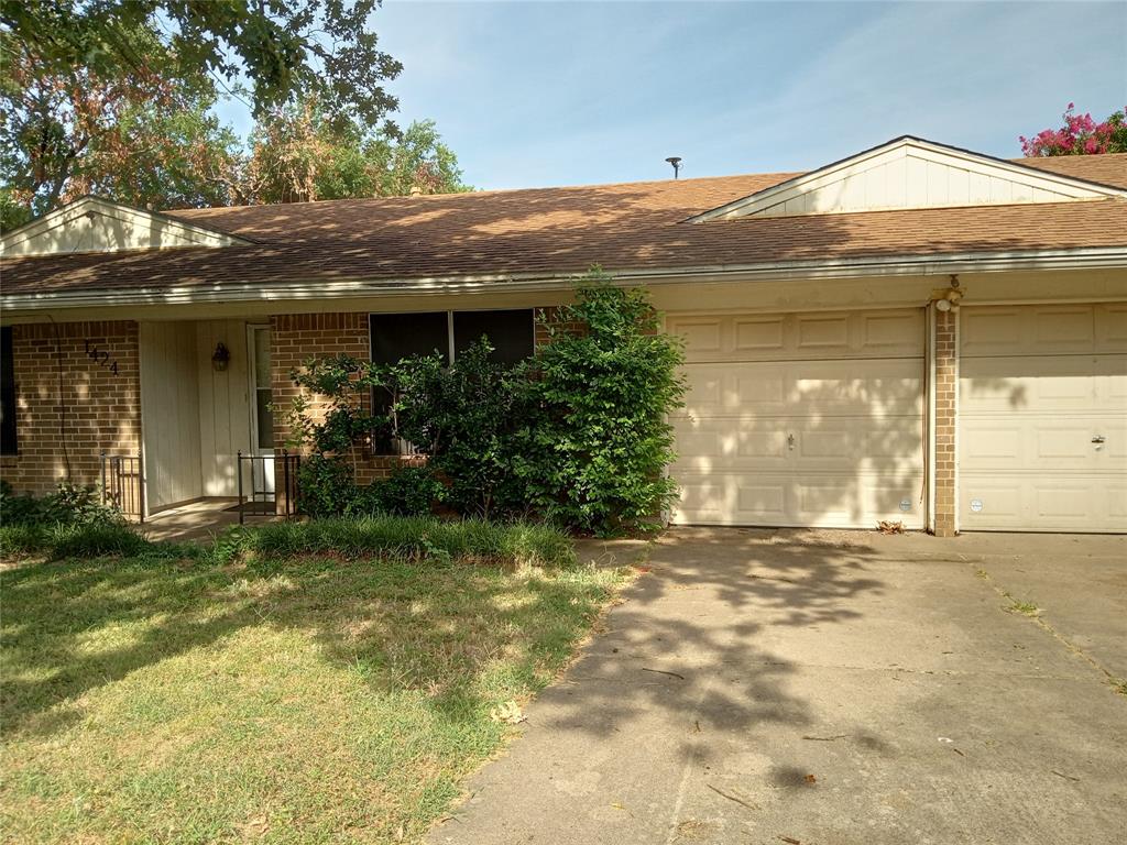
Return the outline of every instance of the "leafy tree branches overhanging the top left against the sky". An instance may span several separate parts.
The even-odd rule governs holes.
[[[316,95],[338,123],[375,125],[397,101],[401,65],[378,48],[380,0],[0,0],[0,28],[56,68],[99,78],[147,74],[142,33],[178,75],[249,84],[256,115]],[[249,83],[247,82],[249,80]]]

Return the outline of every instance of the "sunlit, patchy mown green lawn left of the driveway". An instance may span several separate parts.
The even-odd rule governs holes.
[[[339,555],[2,575],[8,842],[417,840],[627,576]]]

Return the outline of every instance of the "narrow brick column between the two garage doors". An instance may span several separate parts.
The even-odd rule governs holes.
[[[935,312],[935,536],[956,534],[958,472],[959,310]]]

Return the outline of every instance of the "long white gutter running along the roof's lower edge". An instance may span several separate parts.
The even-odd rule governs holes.
[[[1127,248],[1099,247],[1038,252],[965,252],[844,260],[767,261],[747,265],[655,267],[607,270],[620,285],[725,284],[778,279],[835,279],[881,276],[933,276],[951,273],[1127,268]],[[384,278],[350,282],[296,282],[275,285],[224,283],[134,287],[127,290],[60,291],[0,295],[0,308],[12,311],[107,305],[169,305],[223,302],[337,300],[372,295],[442,296],[476,292],[536,292],[570,290],[577,274],[482,274]]]

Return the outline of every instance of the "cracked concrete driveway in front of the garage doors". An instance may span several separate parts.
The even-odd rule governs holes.
[[[432,843],[1122,842],[1127,537],[682,530],[642,553]]]

